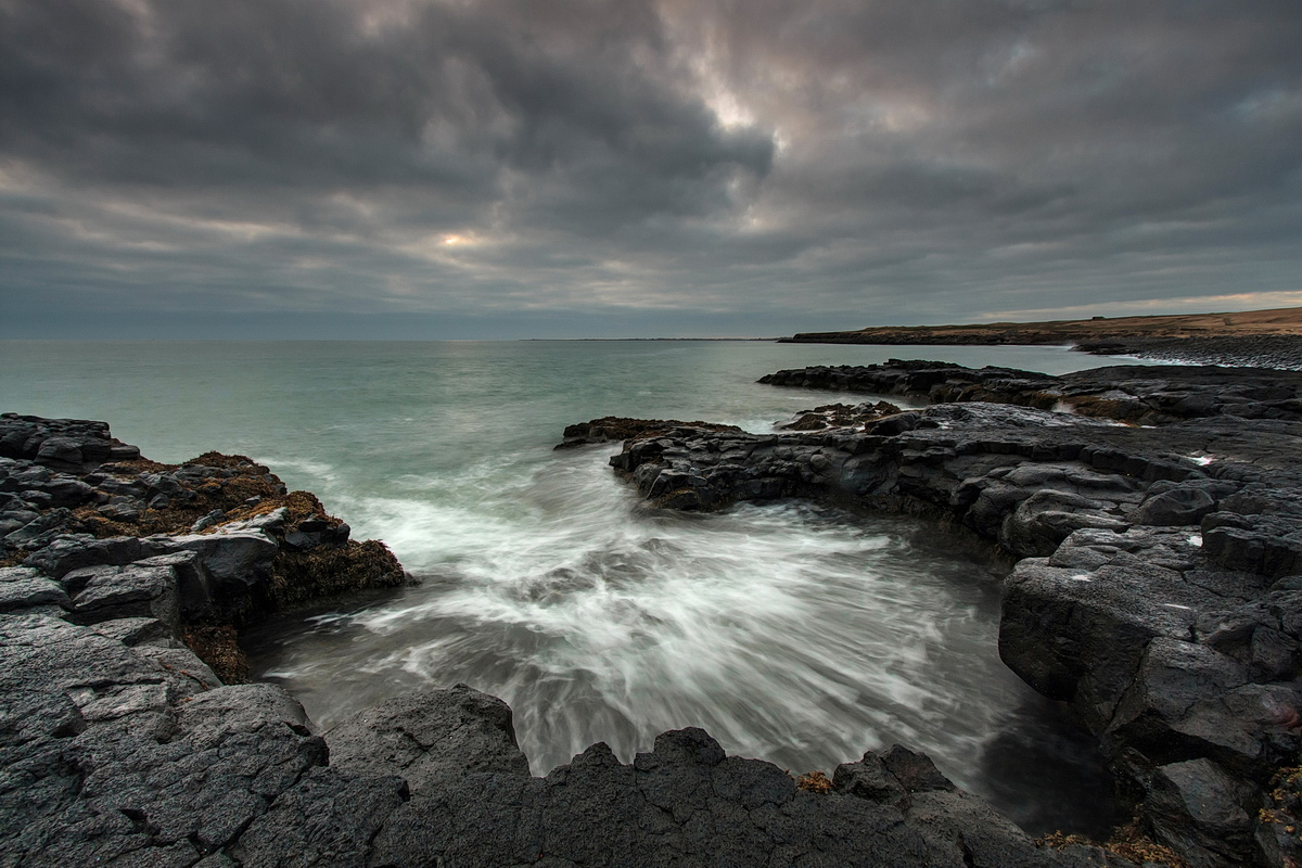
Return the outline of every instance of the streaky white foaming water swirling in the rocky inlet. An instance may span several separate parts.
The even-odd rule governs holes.
[[[510,703],[535,772],[595,740],[628,760],[687,725],[797,769],[904,740],[957,772],[1006,718],[1021,686],[995,655],[982,569],[894,519],[648,514],[607,454],[359,498],[354,526],[424,586],[318,617],[267,665],[326,725],[396,685],[465,681]]]

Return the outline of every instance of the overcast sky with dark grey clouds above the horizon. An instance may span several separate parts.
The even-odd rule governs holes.
[[[1302,305],[1298,0],[0,0],[0,337]]]

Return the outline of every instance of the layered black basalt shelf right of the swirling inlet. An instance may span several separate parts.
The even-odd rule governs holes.
[[[1302,859],[1302,376],[892,362],[763,381],[945,403],[809,433],[677,428],[611,463],[656,506],[812,497],[997,543],[1019,558],[1003,658],[1099,738],[1141,828],[1190,865]]]

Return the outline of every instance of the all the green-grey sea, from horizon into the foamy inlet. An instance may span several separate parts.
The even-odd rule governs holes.
[[[1029,830],[1104,830],[1088,739],[999,661],[1006,565],[988,550],[803,502],[648,511],[607,466],[617,446],[552,450],[602,415],[771,431],[848,398],[759,376],[891,357],[1115,363],[742,341],[5,341],[0,410],[104,419],[159,461],[247,454],[384,540],[419,587],[247,636],[256,675],[324,729],[465,682],[512,705],[535,774],[596,740],[628,761],[689,725],[792,773],[901,742]]]

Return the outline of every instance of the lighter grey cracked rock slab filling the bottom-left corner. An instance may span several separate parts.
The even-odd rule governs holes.
[[[0,695],[17,712],[0,717],[0,789],[10,796],[0,798],[0,858],[193,864],[324,761],[284,691],[217,687],[193,668],[202,664],[181,649],[0,618]]]

